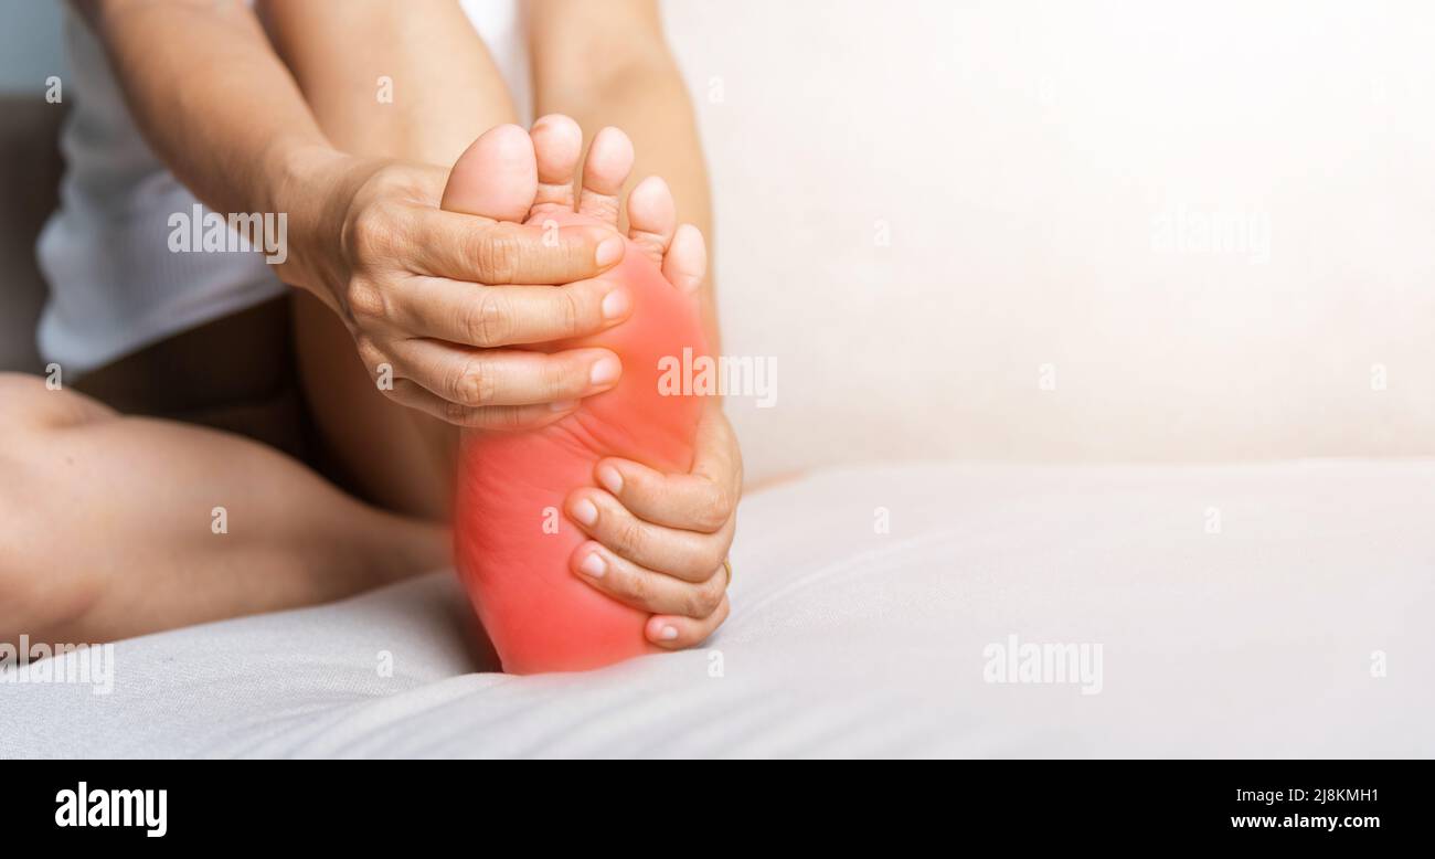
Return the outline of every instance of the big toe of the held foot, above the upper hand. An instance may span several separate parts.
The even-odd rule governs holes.
[[[488,129],[459,155],[442,208],[497,221],[522,221],[538,192],[532,138],[517,125]]]

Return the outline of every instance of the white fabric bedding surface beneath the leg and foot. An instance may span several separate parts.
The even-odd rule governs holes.
[[[1425,757],[1432,509],[1431,460],[822,473],[743,507],[709,649],[471,674],[438,575],[0,684],[0,756]],[[1101,692],[984,682],[1010,635],[1101,644]]]

